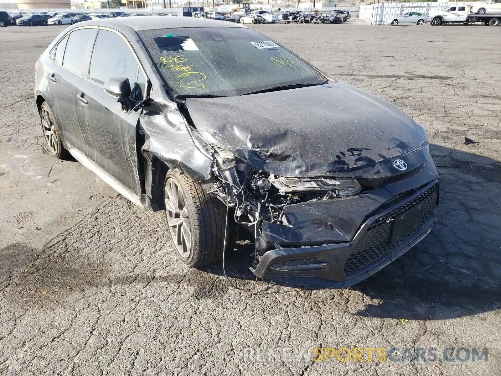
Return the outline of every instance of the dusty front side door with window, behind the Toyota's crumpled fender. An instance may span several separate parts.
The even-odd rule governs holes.
[[[147,78],[126,39],[100,29],[92,52],[88,78],[81,82],[80,122],[87,140],[86,155],[106,172],[139,195],[136,126],[139,111],[131,108],[144,98]],[[131,105],[127,111],[107,94],[104,84],[112,77],[128,78]]]

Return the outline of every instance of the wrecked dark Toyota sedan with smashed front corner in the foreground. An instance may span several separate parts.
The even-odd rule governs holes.
[[[133,203],[165,210],[175,253],[278,283],[349,286],[433,228],[438,174],[402,111],[269,37],[199,18],[88,21],[35,65],[47,145]]]

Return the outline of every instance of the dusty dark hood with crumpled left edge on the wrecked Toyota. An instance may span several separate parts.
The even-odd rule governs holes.
[[[424,129],[390,103],[345,83],[223,98],[188,98],[209,142],[281,176],[358,169],[426,142]]]

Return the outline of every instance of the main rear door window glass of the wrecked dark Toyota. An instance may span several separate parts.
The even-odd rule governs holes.
[[[82,69],[85,64],[84,56],[89,48],[89,44],[94,41],[96,32],[96,29],[80,29],[70,34],[68,42],[66,43],[63,67],[77,74],[82,74]]]

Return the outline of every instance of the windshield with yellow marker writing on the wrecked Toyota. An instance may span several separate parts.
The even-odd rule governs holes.
[[[327,78],[252,29],[186,28],[137,32],[175,95],[242,95]]]

